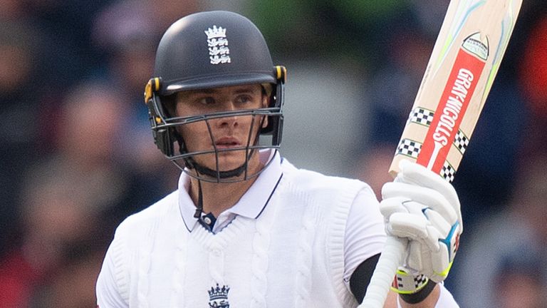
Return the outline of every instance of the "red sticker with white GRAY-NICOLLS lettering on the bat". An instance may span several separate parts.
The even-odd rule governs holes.
[[[459,49],[417,163],[439,173],[469,106],[485,62]]]

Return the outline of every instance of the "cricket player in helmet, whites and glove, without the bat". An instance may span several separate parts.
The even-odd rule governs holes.
[[[442,285],[462,220],[449,183],[407,163],[378,202],[278,152],[286,71],[244,16],[185,16],[145,102],[176,191],[127,217],[97,282],[108,307],[356,307],[386,239],[410,240],[385,307],[457,307]],[[399,293],[399,294],[397,294]]]

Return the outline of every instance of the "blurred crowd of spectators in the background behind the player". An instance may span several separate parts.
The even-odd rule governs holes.
[[[0,0],[0,308],[95,307],[115,227],[176,189],[142,102],[173,21],[226,9],[288,68],[283,155],[380,192],[447,0]],[[547,307],[547,4],[525,0],[454,186],[462,307]]]

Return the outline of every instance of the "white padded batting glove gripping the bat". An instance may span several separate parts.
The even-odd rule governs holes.
[[[446,279],[463,232],[456,190],[422,165],[402,160],[400,173],[382,187],[380,211],[388,235],[409,240],[402,267],[434,282]]]

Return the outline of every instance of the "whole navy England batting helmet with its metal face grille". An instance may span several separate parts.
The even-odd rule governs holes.
[[[258,155],[259,150],[277,150],[281,145],[286,69],[273,66],[264,38],[245,17],[212,11],[179,19],[160,41],[154,76],[145,88],[145,103],[155,143],[167,158],[192,177],[216,183],[252,178],[260,170],[249,170],[249,160]],[[266,83],[272,91],[264,108],[182,117],[173,116],[167,108],[167,102],[173,103],[174,93],[178,91]],[[268,92],[262,88],[264,93]],[[226,117],[251,118],[249,135],[241,147],[219,149],[215,145],[210,123]],[[268,125],[263,127],[265,118]],[[207,125],[212,148],[188,150],[187,140],[179,131],[194,123]],[[227,151],[241,151],[244,163],[234,170],[220,170],[219,155]],[[197,163],[202,155],[214,155],[216,166],[207,168]]]

